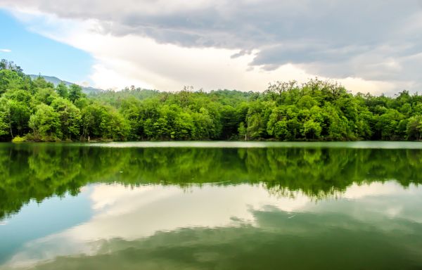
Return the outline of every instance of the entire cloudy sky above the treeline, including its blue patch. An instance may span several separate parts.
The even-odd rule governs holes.
[[[421,0],[1,0],[0,58],[103,89],[422,89]]]

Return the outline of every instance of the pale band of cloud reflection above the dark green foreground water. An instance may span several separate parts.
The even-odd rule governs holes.
[[[422,203],[422,191],[416,186],[404,189],[395,181],[361,186],[354,184],[338,200],[316,203],[302,193],[296,193],[294,198],[277,197],[269,194],[262,185],[248,184],[205,184],[185,189],[179,186],[131,188],[101,184],[93,186],[90,192],[94,215],[88,222],[25,244],[23,250],[8,262],[8,266],[27,266],[60,255],[96,255],[104,241],[117,238],[137,240],[153,236],[158,231],[236,227],[245,224],[271,229],[257,221],[259,212],[281,211],[284,214],[276,214],[274,218],[290,221],[300,219],[300,212],[316,215],[337,213],[386,231],[397,229],[397,226],[385,224],[385,218],[422,223],[421,213],[416,212]],[[297,216],[295,213],[298,213]],[[338,219],[330,222],[331,227],[345,226],[350,230],[358,230],[349,228],[347,224],[342,225]],[[327,227],[327,224],[319,225]],[[293,234],[312,230],[305,224],[274,229],[279,233]]]

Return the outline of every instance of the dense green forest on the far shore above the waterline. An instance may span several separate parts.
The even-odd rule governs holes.
[[[260,90],[260,89],[257,89]],[[422,96],[351,94],[336,82],[263,92],[137,89],[84,94],[0,62],[0,141],[417,141]]]

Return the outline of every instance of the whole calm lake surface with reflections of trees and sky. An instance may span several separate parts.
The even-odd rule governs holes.
[[[422,143],[0,144],[0,269],[422,269]]]

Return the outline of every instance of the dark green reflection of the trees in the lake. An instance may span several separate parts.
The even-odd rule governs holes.
[[[422,150],[350,148],[96,148],[22,144],[0,148],[0,217],[89,183],[259,183],[271,193],[322,198],[353,183],[422,183]]]

